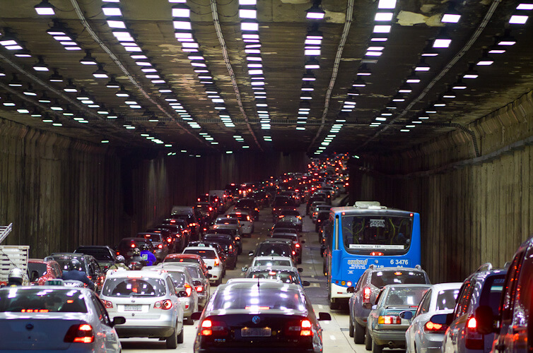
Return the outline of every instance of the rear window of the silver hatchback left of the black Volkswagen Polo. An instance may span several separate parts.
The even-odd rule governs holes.
[[[107,297],[163,297],[165,282],[158,278],[107,278],[102,295]]]

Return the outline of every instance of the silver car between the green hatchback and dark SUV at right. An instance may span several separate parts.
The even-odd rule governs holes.
[[[447,325],[433,323],[431,316],[438,313],[452,313],[462,283],[440,283],[432,285],[422,297],[414,313],[411,325],[405,332],[407,353],[440,353]],[[405,316],[409,318],[411,311]]]

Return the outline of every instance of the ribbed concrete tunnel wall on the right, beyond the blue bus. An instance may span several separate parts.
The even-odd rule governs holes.
[[[482,263],[503,267],[533,233],[533,91],[466,133],[396,155],[352,159],[352,201],[421,215],[422,265],[432,282],[462,282]]]

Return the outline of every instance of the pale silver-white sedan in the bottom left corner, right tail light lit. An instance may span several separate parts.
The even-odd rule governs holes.
[[[120,352],[114,326],[124,322],[123,316],[110,320],[90,289],[61,285],[0,289],[0,349]]]

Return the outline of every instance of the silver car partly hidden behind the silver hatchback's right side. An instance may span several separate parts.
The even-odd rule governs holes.
[[[183,310],[183,317],[187,323],[192,323],[191,315],[194,311],[198,311],[198,293],[194,287],[194,281],[192,280],[189,271],[182,266],[176,266],[175,263],[161,263],[157,266],[148,266],[143,270],[165,270],[170,273],[172,280],[174,281],[175,289],[177,293],[185,291],[187,296],[180,297],[180,304]]]

